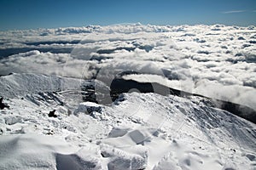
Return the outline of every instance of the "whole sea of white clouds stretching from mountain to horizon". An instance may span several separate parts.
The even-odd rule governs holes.
[[[0,73],[161,82],[256,110],[254,26],[87,26],[0,32]],[[10,53],[12,52],[12,53]]]

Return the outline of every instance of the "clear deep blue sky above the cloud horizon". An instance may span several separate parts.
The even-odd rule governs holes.
[[[1,0],[0,30],[136,23],[256,26],[256,0]]]

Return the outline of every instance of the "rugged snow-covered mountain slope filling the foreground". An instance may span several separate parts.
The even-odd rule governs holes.
[[[26,96],[3,96],[1,169],[256,168],[256,125],[200,97],[131,93],[107,106],[63,92]]]

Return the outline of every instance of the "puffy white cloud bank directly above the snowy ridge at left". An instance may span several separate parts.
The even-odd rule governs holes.
[[[27,53],[11,55],[2,59],[0,63],[1,74],[7,75],[11,72],[33,72],[45,75],[59,75],[62,77],[90,78],[95,71],[89,70],[93,61],[87,62],[79,59],[71,59],[70,54],[40,53],[33,50]]]

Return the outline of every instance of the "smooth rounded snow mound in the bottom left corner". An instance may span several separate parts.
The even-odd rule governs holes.
[[[66,161],[59,155],[74,153],[79,148],[60,139],[23,134],[0,136],[0,150],[1,169],[55,169]],[[69,163],[74,166],[79,161]]]

